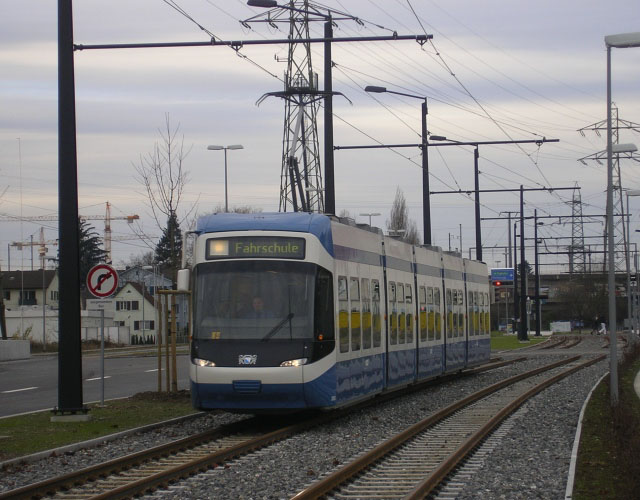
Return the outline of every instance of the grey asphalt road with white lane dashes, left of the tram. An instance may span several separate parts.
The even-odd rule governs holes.
[[[131,396],[158,387],[158,360],[154,356],[112,357],[104,361],[104,398]],[[189,388],[188,355],[177,356],[178,389]],[[164,369],[164,360],[163,360]],[[162,384],[165,387],[165,373]],[[82,357],[84,403],[100,401],[100,356]],[[28,360],[0,363],[0,417],[51,410],[58,406],[58,357],[34,356]]]

